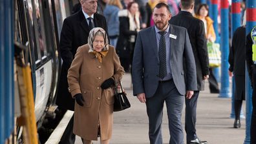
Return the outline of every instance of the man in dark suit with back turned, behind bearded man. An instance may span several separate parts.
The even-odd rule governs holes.
[[[198,90],[194,91],[191,99],[186,99],[185,130],[187,133],[187,143],[207,143],[207,141],[200,141],[198,139],[195,129],[198,95],[200,90],[204,90],[204,80],[209,77],[209,58],[204,23],[191,14],[195,6],[194,0],[181,0],[180,3],[182,11],[175,17],[172,17],[169,23],[187,28],[197,68]]]

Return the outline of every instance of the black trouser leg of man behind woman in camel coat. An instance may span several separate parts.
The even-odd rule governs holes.
[[[70,119],[62,137],[59,141],[59,144],[74,144],[76,140],[76,135],[73,133],[73,126],[74,126],[74,114]]]

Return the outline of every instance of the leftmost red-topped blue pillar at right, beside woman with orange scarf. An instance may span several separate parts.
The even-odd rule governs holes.
[[[218,24],[218,3],[219,0],[211,0],[211,19],[213,19],[213,27],[216,34],[216,41],[215,43],[220,43],[220,36],[219,36],[219,24]],[[213,74],[217,79],[218,83],[220,82],[220,68],[213,68]]]

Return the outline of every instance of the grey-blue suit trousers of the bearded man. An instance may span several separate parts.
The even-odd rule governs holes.
[[[164,101],[167,108],[169,133],[171,135],[169,143],[183,144],[184,134],[182,131],[181,115],[184,105],[184,96],[178,92],[173,79],[159,82],[154,96],[146,99],[150,143],[163,143],[161,129]]]

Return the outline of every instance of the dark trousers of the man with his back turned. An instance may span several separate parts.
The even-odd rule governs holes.
[[[187,143],[193,139],[197,138],[197,132],[195,129],[195,125],[197,122],[197,99],[198,99],[199,91],[194,91],[194,94],[191,99],[186,100],[186,114],[185,114],[185,130],[186,130],[186,138]]]

